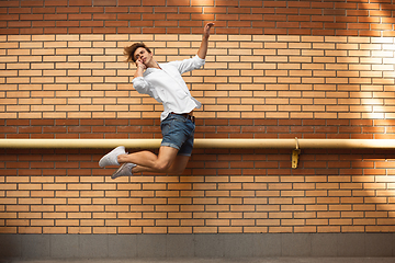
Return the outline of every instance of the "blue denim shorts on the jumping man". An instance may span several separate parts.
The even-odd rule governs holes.
[[[172,147],[179,150],[179,156],[191,156],[195,124],[177,114],[169,114],[161,123],[160,128],[163,139],[161,146]]]

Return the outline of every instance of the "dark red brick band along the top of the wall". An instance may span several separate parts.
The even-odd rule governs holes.
[[[390,0],[21,0],[0,2],[1,34],[394,36]]]

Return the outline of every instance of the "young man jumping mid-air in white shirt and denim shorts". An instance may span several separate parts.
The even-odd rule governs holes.
[[[137,66],[132,81],[134,89],[163,104],[160,115],[162,141],[158,155],[151,151],[128,155],[124,146],[110,151],[100,159],[99,165],[104,168],[122,164],[112,174],[112,179],[142,172],[181,174],[184,171],[193,149],[193,110],[200,108],[202,104],[191,95],[181,75],[199,69],[205,64],[212,26],[214,23],[204,26],[198,54],[180,61],[158,64],[150,49],[143,43],[125,47],[127,60]]]

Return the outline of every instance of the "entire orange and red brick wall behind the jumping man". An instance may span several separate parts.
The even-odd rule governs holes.
[[[196,138],[394,139],[391,1],[0,1],[0,138],[160,138],[123,47],[193,56]],[[144,5],[148,3],[150,5]],[[108,150],[0,149],[0,232],[394,232],[391,150],[195,149],[111,180]],[[133,149],[129,149],[133,151]]]

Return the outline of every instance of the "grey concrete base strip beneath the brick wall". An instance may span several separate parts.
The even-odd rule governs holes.
[[[0,235],[0,259],[386,258],[395,233]]]

